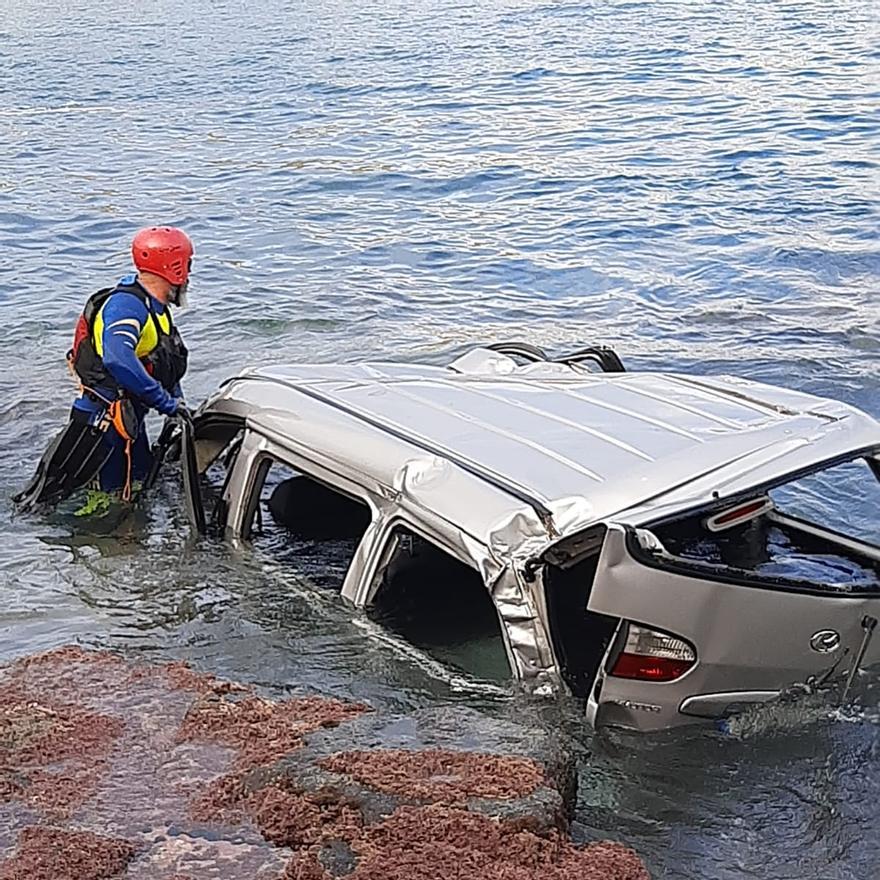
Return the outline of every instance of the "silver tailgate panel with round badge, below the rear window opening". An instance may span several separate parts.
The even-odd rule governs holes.
[[[688,570],[646,550],[635,530],[611,525],[588,607],[693,646],[696,663],[681,679],[644,684],[668,710],[694,695],[779,690],[835,663],[842,672],[880,617],[880,594],[738,582],[723,566]],[[869,639],[861,665],[878,662],[880,636]]]

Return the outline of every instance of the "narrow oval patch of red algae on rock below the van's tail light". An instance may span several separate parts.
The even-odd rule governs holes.
[[[527,797],[545,782],[544,768],[530,758],[450,749],[340,752],[320,766],[375,791],[431,803]]]

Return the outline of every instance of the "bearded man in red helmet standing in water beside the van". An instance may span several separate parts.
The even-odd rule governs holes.
[[[192,242],[181,229],[152,226],[135,235],[131,253],[136,271],[91,296],[80,316],[68,362],[81,393],[67,427],[16,496],[22,507],[55,504],[84,485],[92,488],[78,514],[106,510],[116,493],[130,500],[132,485],[152,465],[148,410],[186,412],[180,380],[187,350],[170,306],[185,303]]]

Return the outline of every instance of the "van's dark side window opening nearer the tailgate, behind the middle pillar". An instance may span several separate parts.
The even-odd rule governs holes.
[[[370,616],[436,660],[482,679],[510,677],[498,611],[480,573],[399,528]]]

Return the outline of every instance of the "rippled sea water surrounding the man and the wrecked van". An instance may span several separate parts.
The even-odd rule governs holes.
[[[79,640],[535,712],[583,749],[579,833],[658,877],[873,876],[876,677],[742,739],[592,737],[576,705],[407,654],[271,547],[190,541],[171,484],[88,526],[8,495],[69,406],[78,309],[159,219],[196,241],[191,402],[245,364],[513,337],[880,413],[876,37],[853,0],[6,3],[0,658]]]

